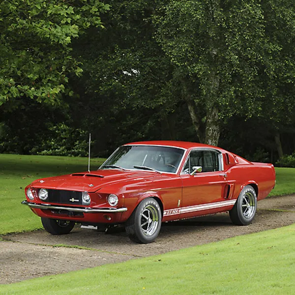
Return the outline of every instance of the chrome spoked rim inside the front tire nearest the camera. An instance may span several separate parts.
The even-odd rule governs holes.
[[[155,233],[159,224],[158,211],[153,206],[147,206],[141,213],[141,229],[146,236]]]

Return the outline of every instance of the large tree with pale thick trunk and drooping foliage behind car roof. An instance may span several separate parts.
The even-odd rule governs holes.
[[[221,121],[234,114],[250,118],[282,105],[271,95],[281,83],[275,72],[285,62],[284,40],[276,38],[281,27],[275,34],[267,28],[283,18],[289,21],[284,34],[294,40],[294,4],[270,2],[171,0],[154,18],[159,43],[179,67],[182,99],[201,142],[217,145]]]

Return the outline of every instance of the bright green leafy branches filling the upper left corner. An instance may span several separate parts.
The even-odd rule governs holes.
[[[24,96],[59,105],[68,75],[81,75],[72,40],[90,26],[101,27],[98,0],[0,2],[0,105]],[[14,107],[17,107],[14,106]]]

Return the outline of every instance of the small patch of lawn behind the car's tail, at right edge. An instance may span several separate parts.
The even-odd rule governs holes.
[[[281,196],[295,193],[295,168],[275,168],[276,186],[269,196]]]

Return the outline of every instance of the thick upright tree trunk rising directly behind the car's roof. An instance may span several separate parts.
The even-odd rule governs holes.
[[[218,108],[211,107],[207,109],[205,144],[211,145],[211,146],[217,146],[219,136],[220,136],[220,124],[219,124]]]

